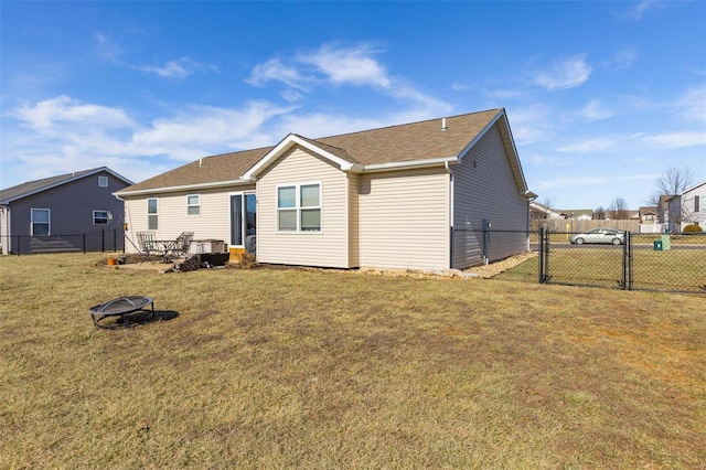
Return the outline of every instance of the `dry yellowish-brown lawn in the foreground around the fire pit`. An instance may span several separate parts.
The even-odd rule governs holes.
[[[98,259],[0,259],[0,468],[706,461],[703,297]]]

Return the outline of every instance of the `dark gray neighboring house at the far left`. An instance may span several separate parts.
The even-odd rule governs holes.
[[[122,249],[122,201],[132,182],[100,167],[0,191],[2,254]]]

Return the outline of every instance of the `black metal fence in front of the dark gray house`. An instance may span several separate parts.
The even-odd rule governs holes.
[[[30,255],[35,253],[87,253],[120,252],[125,249],[124,232],[118,228],[103,228],[83,234],[66,235],[11,235],[0,237],[2,254]]]

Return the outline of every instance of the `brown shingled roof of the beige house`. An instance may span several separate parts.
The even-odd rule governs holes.
[[[500,113],[502,109],[490,109],[449,117],[446,130],[441,130],[441,119],[431,119],[319,139],[297,137],[351,163],[404,163],[460,154]],[[235,182],[274,148],[205,157],[125,188],[118,194]]]

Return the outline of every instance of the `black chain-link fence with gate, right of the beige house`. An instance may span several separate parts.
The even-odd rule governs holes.
[[[546,229],[453,229],[452,266],[494,279],[706,293],[706,233],[625,231],[602,241],[606,243],[590,243],[595,241],[586,237],[579,241],[584,243],[571,243],[571,236],[579,235]],[[616,238],[619,244],[612,243]]]

